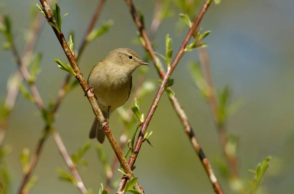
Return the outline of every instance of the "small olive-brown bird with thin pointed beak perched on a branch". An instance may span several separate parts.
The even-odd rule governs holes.
[[[130,97],[132,89],[132,73],[144,63],[138,54],[129,48],[117,48],[111,51],[102,61],[95,65],[88,77],[88,85],[93,88],[98,106],[104,118],[115,109],[123,106]],[[97,138],[103,143],[105,134],[95,117],[89,137]]]

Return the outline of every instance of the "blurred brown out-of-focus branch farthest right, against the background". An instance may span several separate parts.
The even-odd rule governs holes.
[[[227,154],[225,147],[228,144],[228,134],[225,129],[223,122],[219,122],[218,113],[220,111],[220,106],[217,100],[215,87],[213,85],[213,79],[210,70],[209,55],[205,48],[198,49],[198,55],[200,59],[201,69],[204,75],[204,79],[208,85],[209,91],[207,92],[207,101],[209,103],[215,125],[218,129],[219,139],[221,142],[221,148],[224,153],[224,156],[228,163],[229,174],[232,179],[238,179],[238,167],[237,167],[237,158],[231,154]]]

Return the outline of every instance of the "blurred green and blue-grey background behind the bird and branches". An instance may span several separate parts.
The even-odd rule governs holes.
[[[37,0],[1,0],[1,13],[8,14],[12,20],[12,29],[20,51],[24,48],[24,33],[28,26],[29,8]],[[68,35],[75,32],[75,48],[84,34],[89,19],[98,0],[60,0],[61,12],[69,13],[65,17],[62,31]],[[145,15],[146,26],[150,26],[154,9],[154,0],[134,0]],[[200,5],[202,2],[200,3]],[[272,156],[270,169],[264,178],[267,194],[291,194],[293,185],[294,147],[294,1],[293,0],[223,0],[214,5],[205,14],[201,27],[212,33],[206,39],[211,59],[211,68],[218,90],[229,85],[233,91],[233,101],[243,99],[244,104],[236,114],[229,118],[227,130],[240,137],[238,145],[239,170],[245,184],[253,179],[248,169],[256,169],[268,155]],[[178,21],[175,15],[165,20],[156,35],[157,52],[164,53],[164,37],[170,33],[174,53],[186,36],[175,29]],[[109,33],[87,46],[79,65],[85,77],[91,68],[112,49],[129,47],[140,56],[144,56],[141,45],[132,43],[136,37],[136,27],[123,0],[107,1],[98,24],[114,20]],[[67,37],[67,36],[66,36]],[[0,43],[4,41],[0,37]],[[43,53],[42,72],[37,77],[37,86],[46,104],[55,99],[66,73],[57,68],[53,58],[66,61],[66,57],[49,25],[45,24],[36,51]],[[10,51],[0,51],[0,96],[4,99],[9,75],[16,71]],[[176,67],[173,89],[189,117],[196,136],[206,156],[211,161],[225,193],[230,193],[228,182],[216,166],[216,158],[221,156],[217,132],[212,122],[209,106],[203,101],[189,73],[188,62],[196,61],[196,51],[188,52]],[[134,73],[136,78],[138,71]],[[147,79],[156,83],[158,75],[152,65]],[[133,83],[135,84],[136,79]],[[147,95],[141,102],[141,111],[147,113],[156,91]],[[126,106],[129,104],[126,103]],[[70,153],[76,151],[86,140],[88,130],[94,118],[89,102],[78,86],[62,103],[55,122],[66,148]],[[41,135],[44,122],[35,105],[19,96],[12,112],[4,144],[12,148],[7,157],[9,173],[12,177],[11,193],[15,193],[22,179],[20,154],[27,147],[31,151]],[[118,138],[123,128],[115,113],[110,119],[110,127]],[[148,130],[153,134],[149,138],[156,148],[144,143],[136,162],[135,175],[146,194],[213,194],[212,186],[199,159],[192,149],[172,106],[164,94],[151,120]],[[88,168],[79,168],[87,188],[98,193],[102,165],[92,141],[92,148],[85,155]],[[108,142],[103,144],[107,157],[111,160],[113,151]],[[57,167],[67,169],[63,158],[50,137],[33,174],[39,180],[31,194],[79,194],[73,185],[58,180]],[[120,174],[116,173],[116,177]],[[114,192],[113,192],[114,193]]]

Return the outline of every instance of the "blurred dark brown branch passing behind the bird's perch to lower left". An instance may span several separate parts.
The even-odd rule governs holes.
[[[92,29],[94,28],[95,23],[98,20],[98,16],[101,13],[101,10],[102,10],[102,7],[103,7],[105,1],[106,0],[100,0],[100,2],[98,3],[97,9],[95,10],[95,13],[94,13],[94,15],[93,15],[93,17],[91,19],[91,22],[90,22],[90,24],[88,26],[88,29],[87,29],[86,33],[84,35],[84,38],[82,40],[82,43],[81,43],[81,45],[80,45],[80,47],[78,49],[77,60],[80,59],[80,56],[81,56],[83,50],[86,47],[86,44],[87,44],[86,37],[92,31]],[[40,15],[40,17],[42,17],[42,19],[44,19],[42,15]],[[61,101],[63,100],[63,98],[65,97],[65,95],[68,93],[67,88],[68,88],[68,86],[70,84],[71,78],[72,78],[71,75],[67,75],[66,78],[65,78],[65,81],[64,81],[63,85],[59,89],[59,91],[58,91],[58,97],[57,97],[57,99],[56,99],[56,101],[54,103],[54,107],[52,108],[52,110],[50,112],[50,117],[51,118],[54,118],[55,113],[57,112],[57,109],[59,108],[59,106],[61,104]],[[27,181],[28,181],[31,173],[35,169],[35,166],[37,164],[37,161],[38,161],[38,159],[40,157],[41,150],[43,149],[44,143],[46,142],[46,139],[48,138],[48,136],[50,134],[48,132],[48,130],[49,130],[49,126],[46,126],[43,129],[44,135],[41,136],[41,138],[40,138],[40,140],[39,140],[39,142],[38,142],[38,144],[36,146],[36,150],[34,152],[34,155],[30,159],[28,171],[25,172],[24,177],[23,177],[23,180],[22,180],[22,184],[21,184],[20,189],[19,189],[20,194],[21,194],[21,191],[24,189],[25,184],[27,183]]]

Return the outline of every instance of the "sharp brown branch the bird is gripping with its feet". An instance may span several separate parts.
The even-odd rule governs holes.
[[[54,17],[53,17],[53,14],[52,14],[52,11],[49,7],[49,4],[47,2],[47,0],[40,0],[41,4],[42,4],[42,7],[43,9],[45,10],[45,13],[46,13],[46,18],[47,18],[47,21],[48,22],[52,22],[52,23],[56,23]],[[105,135],[112,147],[112,149],[114,150],[116,156],[118,157],[120,163],[122,164],[122,167],[123,167],[123,170],[124,172],[130,177],[130,178],[133,178],[134,177],[134,174],[133,172],[131,171],[130,167],[128,166],[124,156],[123,156],[123,153],[118,145],[118,143],[116,142],[116,140],[114,139],[113,137],[113,134],[111,132],[111,130],[109,129],[109,127],[106,125],[106,122],[105,122],[105,118],[103,117],[103,114],[100,110],[100,108],[98,107],[98,103],[96,101],[96,98],[95,98],[95,94],[91,92],[91,90],[88,90],[87,91],[87,88],[88,88],[88,84],[86,82],[86,80],[84,79],[84,76],[75,60],[75,58],[73,57],[73,53],[71,52],[64,36],[63,36],[63,33],[60,32],[58,33],[58,31],[52,27],[55,35],[56,35],[56,38],[58,39],[61,47],[63,48],[64,50],[64,53],[66,54],[71,66],[73,67],[73,71],[75,72],[76,76],[75,78],[78,80],[80,86],[82,87],[83,91],[84,92],[87,92],[86,96],[92,106],[92,109],[93,109],[93,112],[94,114],[96,115],[96,117],[98,118],[99,122],[102,123],[104,125],[103,127],[103,130],[105,132]],[[140,187],[138,186],[138,184],[136,184],[135,188],[137,190],[141,190]],[[143,190],[141,191],[141,193],[143,193]]]

